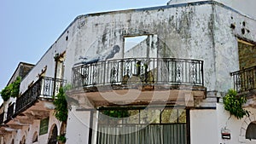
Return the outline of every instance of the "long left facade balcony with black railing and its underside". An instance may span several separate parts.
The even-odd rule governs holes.
[[[32,84],[22,95],[20,95],[20,97],[16,99],[14,104],[9,106],[7,118],[3,119],[4,123],[14,124],[9,121],[19,117],[19,115],[29,115],[33,118],[44,118],[45,115],[49,113],[47,108],[44,107],[44,101],[52,101],[53,95],[58,93],[59,88],[61,85],[65,84],[65,82],[66,81],[58,78],[39,78],[37,82]],[[25,114],[21,114],[22,112]]]

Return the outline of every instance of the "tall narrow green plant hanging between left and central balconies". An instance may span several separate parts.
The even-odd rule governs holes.
[[[55,118],[61,122],[67,121],[67,100],[62,87],[59,89],[58,95],[55,96],[53,104],[55,105]]]

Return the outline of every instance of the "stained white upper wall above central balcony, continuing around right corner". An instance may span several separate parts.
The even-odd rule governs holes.
[[[247,20],[251,30],[244,35],[241,34],[243,20]],[[255,40],[255,21],[222,5],[89,14],[81,16],[79,21],[79,31],[68,47],[73,63],[79,62],[79,56],[89,55],[90,49],[96,49],[91,55],[115,43],[123,49],[123,37],[155,34],[165,44],[159,49],[159,57],[204,60],[204,82],[208,91],[223,92],[231,88],[229,73],[238,70],[236,36]],[[230,28],[232,23],[236,24],[235,30]],[[144,55],[137,52],[142,53],[137,55]],[[115,58],[122,56],[119,54]],[[73,66],[72,62],[70,65]]]

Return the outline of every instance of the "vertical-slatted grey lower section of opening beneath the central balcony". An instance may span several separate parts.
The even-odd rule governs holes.
[[[142,129],[143,128],[143,129]],[[125,135],[115,135],[118,128],[99,126],[102,132],[97,132],[97,144],[186,144],[186,124],[149,124],[126,126],[127,130],[135,132]]]

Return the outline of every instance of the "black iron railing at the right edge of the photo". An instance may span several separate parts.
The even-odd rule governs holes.
[[[234,81],[234,89],[237,92],[245,92],[256,89],[256,66],[252,66],[240,71],[231,72]]]

